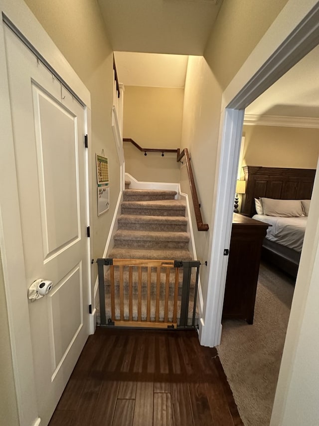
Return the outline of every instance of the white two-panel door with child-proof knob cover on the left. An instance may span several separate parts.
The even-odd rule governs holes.
[[[53,282],[28,305],[44,426],[89,334],[85,108],[8,28],[5,44],[25,293],[37,278]]]

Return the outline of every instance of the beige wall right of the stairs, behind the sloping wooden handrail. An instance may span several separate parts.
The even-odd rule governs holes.
[[[183,109],[182,141],[189,150],[201,214],[204,223],[212,219],[214,197],[216,156],[220,121],[221,88],[206,60],[202,56],[189,56]],[[208,232],[197,231],[196,220],[191,201],[187,171],[181,167],[180,183],[182,192],[186,192],[191,204],[192,225],[197,258],[204,262],[208,256]],[[200,268],[203,298],[206,300],[208,273]]]

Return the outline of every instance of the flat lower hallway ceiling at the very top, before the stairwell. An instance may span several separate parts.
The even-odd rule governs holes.
[[[202,55],[222,0],[98,0],[113,50]]]

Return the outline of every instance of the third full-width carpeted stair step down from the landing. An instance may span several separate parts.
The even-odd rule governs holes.
[[[187,219],[182,216],[142,216],[122,214],[118,218],[119,229],[131,231],[186,232]]]

